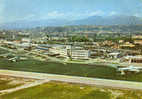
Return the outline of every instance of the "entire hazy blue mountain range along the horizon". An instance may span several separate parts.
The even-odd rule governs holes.
[[[46,26],[64,26],[64,25],[136,25],[142,24],[142,18],[136,16],[91,16],[82,20],[21,20],[11,23],[1,24],[0,28],[4,29],[25,29]]]

